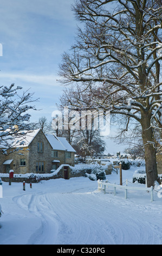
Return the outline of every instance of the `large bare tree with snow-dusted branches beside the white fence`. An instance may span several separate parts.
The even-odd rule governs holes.
[[[63,55],[62,82],[80,84],[87,107],[141,125],[150,187],[158,179],[154,129],[161,132],[161,0],[78,0],[73,11],[85,26]]]

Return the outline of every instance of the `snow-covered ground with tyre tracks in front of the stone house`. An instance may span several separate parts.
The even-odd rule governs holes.
[[[123,182],[132,182],[135,169],[122,171]],[[119,174],[107,179],[119,184]],[[25,188],[3,182],[1,245],[162,244],[162,199],[157,191],[153,202],[148,192],[128,191],[125,199],[124,190],[116,189],[114,197],[112,189],[103,194],[97,181],[85,177]]]

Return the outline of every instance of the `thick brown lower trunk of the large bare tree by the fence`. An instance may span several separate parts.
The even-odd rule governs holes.
[[[148,114],[142,114],[142,140],[145,147],[145,163],[147,186],[154,186],[154,181],[158,180],[156,149],[153,142],[153,129],[151,127],[151,117]]]

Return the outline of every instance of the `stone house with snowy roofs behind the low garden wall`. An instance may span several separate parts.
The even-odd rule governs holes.
[[[46,136],[41,129],[27,132],[9,150],[9,155],[0,156],[1,173],[9,173],[10,169],[16,174],[50,173],[60,164],[74,165],[75,150],[66,139]]]

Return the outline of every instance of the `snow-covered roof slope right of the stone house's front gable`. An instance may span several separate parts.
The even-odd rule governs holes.
[[[55,135],[52,134],[46,135],[46,137],[54,150],[75,152],[73,147],[67,142],[66,138],[56,137]]]

